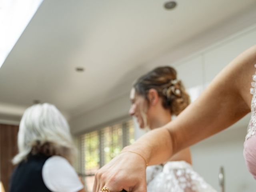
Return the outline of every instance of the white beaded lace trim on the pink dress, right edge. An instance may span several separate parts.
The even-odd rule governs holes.
[[[254,67],[256,68],[256,64],[254,65]],[[256,132],[256,74],[252,76],[252,80],[252,88],[250,88],[250,94],[253,95],[251,102],[251,119],[247,128],[247,134],[245,137],[246,140],[250,138],[252,135],[254,135]]]

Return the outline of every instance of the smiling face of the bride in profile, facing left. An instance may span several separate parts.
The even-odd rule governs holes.
[[[136,94],[135,89],[132,88],[130,92],[130,100],[131,100],[131,107],[129,110],[129,114],[131,116],[136,117],[137,122],[140,126],[140,128],[145,128],[146,127],[146,109],[147,109],[147,102],[146,100]]]

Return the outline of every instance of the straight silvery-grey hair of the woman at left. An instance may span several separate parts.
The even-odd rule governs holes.
[[[18,132],[18,154],[13,164],[25,160],[34,148],[50,149],[50,155],[60,155],[70,163],[76,157],[76,147],[68,122],[52,104],[36,104],[27,108],[22,116]],[[44,151],[44,149],[43,149]]]

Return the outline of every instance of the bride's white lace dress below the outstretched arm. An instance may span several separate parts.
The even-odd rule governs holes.
[[[217,192],[185,161],[172,161],[146,169],[148,192]]]

